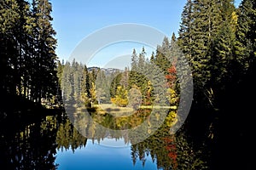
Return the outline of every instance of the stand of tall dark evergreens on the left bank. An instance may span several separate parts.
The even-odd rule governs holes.
[[[49,1],[1,1],[0,88],[9,94],[38,103],[58,94],[51,10]]]

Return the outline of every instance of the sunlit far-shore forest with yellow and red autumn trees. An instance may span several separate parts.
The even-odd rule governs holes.
[[[127,67],[124,70],[87,68],[75,59],[72,63],[58,62],[63,100],[67,103],[73,97],[84,104],[91,100],[94,104],[113,103],[121,107],[128,104],[133,107],[175,105],[178,100],[177,71],[174,66],[178,62],[177,57],[174,57],[176,51],[172,51],[175,46],[177,39],[174,35],[171,42],[165,37],[163,44],[158,46],[156,54],[153,52],[150,59],[146,58],[145,48],[142,48],[140,54],[133,49],[131,70]]]

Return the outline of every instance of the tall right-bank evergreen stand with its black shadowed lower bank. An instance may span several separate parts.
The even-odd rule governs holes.
[[[255,1],[188,1],[178,44],[193,70],[187,125],[195,144],[209,144],[214,169],[252,169],[255,95]]]

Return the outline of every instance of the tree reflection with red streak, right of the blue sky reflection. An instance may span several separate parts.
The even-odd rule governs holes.
[[[187,135],[183,131],[170,134],[165,122],[153,135],[131,146],[132,161],[136,164],[139,159],[144,165],[150,154],[152,161],[157,161],[158,169],[207,169],[204,153],[195,150]]]

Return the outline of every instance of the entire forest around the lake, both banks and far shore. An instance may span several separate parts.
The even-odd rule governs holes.
[[[88,68],[75,59],[59,61],[51,11],[48,0],[0,2],[0,93],[4,99],[0,122],[11,114],[4,107],[10,102],[62,105],[63,100],[66,106],[85,108],[170,106],[165,114],[167,126],[172,127],[183,121],[177,116],[184,86],[180,75],[188,72],[178,71],[183,71],[181,65],[187,60],[194,97],[182,127],[186,138],[196,150],[207,148],[212,169],[253,168],[249,155],[255,148],[251,138],[256,94],[254,0],[243,0],[238,8],[232,0],[188,0],[177,36],[165,37],[149,58],[143,47],[141,52],[134,49],[131,68],[113,71]],[[133,118],[128,120],[137,119]]]

